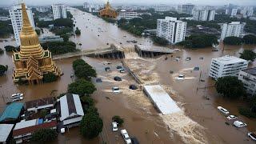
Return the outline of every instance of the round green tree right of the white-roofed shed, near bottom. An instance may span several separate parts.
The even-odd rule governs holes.
[[[86,114],[80,123],[80,132],[83,137],[91,139],[102,132],[103,121],[97,114]]]

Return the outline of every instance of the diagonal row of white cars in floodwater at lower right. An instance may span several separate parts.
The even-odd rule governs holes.
[[[228,110],[226,110],[225,108],[223,108],[222,106],[218,106],[217,108],[218,108],[219,111],[222,112],[222,114],[226,114],[226,115],[230,114],[230,112],[229,112]],[[235,115],[229,115],[229,116],[227,116],[226,118],[229,119],[229,120],[235,120],[235,119],[237,119],[238,117],[235,116]],[[236,126],[236,127],[238,127],[238,128],[247,126],[246,123],[241,122],[241,121],[238,121],[238,120],[237,120],[237,121],[234,121],[233,125]],[[249,132],[247,135],[248,135],[251,139],[253,139],[254,141],[256,141],[256,134],[255,134],[255,133]]]

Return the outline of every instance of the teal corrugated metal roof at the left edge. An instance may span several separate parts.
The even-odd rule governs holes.
[[[13,102],[10,103],[2,113],[0,117],[0,122],[6,121],[8,119],[16,119],[21,113],[23,107],[23,103],[21,102]]]

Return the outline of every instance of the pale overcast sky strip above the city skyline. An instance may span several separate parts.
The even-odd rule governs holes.
[[[21,0],[0,0],[0,6],[13,5]],[[82,5],[83,2],[106,2],[107,0],[23,0],[27,5],[51,5],[53,3],[66,3],[70,5]],[[110,0],[110,3],[134,3],[134,4],[185,4],[195,5],[226,5],[228,3],[238,6],[256,6],[256,0]]]

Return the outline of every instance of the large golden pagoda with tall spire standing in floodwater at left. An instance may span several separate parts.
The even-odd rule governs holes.
[[[43,50],[38,41],[38,34],[30,25],[26,6],[22,3],[22,30],[19,52],[14,52],[14,82],[28,81],[30,84],[42,83],[43,74],[52,72],[60,76],[61,70],[55,65],[49,50]]]

